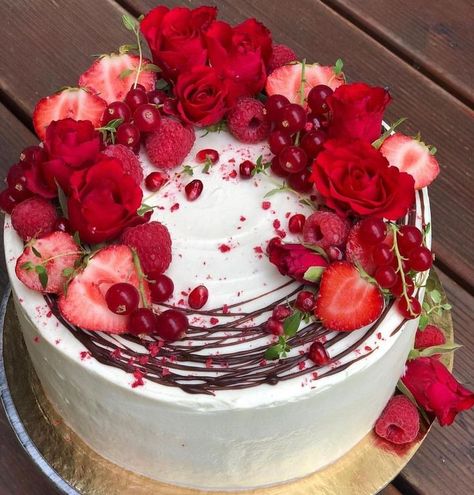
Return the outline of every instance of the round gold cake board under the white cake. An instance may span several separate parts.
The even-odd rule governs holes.
[[[446,299],[438,276],[430,277]],[[0,390],[7,416],[23,447],[50,480],[67,494],[82,495],[229,495],[228,491],[202,491],[160,483],[132,473],[91,450],[52,408],[29,359],[13,301],[7,293],[2,304],[0,334]],[[432,322],[453,341],[449,311]],[[1,323],[1,320],[0,320]],[[3,342],[3,346],[2,346]],[[3,347],[3,348],[2,348]],[[443,357],[452,369],[452,353]],[[431,426],[431,425],[430,425]],[[322,471],[289,483],[239,495],[373,495],[404,468],[420,447],[429,428],[422,427],[417,440],[394,446],[373,432],[352,450]],[[343,432],[341,432],[343,434]]]

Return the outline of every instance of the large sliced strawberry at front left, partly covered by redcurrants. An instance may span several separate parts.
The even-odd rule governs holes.
[[[139,288],[131,249],[124,245],[101,249],[59,298],[59,310],[70,323],[86,330],[126,333],[128,316],[113,313],[105,302],[109,287],[119,282]]]

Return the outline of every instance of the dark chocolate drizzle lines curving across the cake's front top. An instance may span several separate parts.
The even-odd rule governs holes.
[[[418,194],[424,219],[423,194],[421,192]],[[415,219],[416,214],[413,210],[407,215],[406,223],[414,225]],[[128,373],[139,370],[147,380],[165,386],[179,387],[190,394],[214,395],[217,390],[244,389],[261,384],[276,385],[280,381],[303,375],[317,380],[343,371],[374,352],[376,348],[364,348],[363,352],[341,363],[341,360],[377,332],[393,302],[386,306],[377,322],[355,342],[350,339],[351,333],[329,331],[320,323],[312,322],[300,328],[295,336],[288,339],[291,348],[296,349],[296,354],[292,352],[285,359],[276,361],[264,360],[264,353],[270,345],[269,335],[264,328],[266,319],[276,305],[285,301],[291,303],[302,287],[293,281],[287,282],[271,291],[288,289],[284,297],[252,312],[232,312],[232,308],[236,306],[245,308],[246,304],[269,293],[262,294],[253,300],[231,305],[229,312],[223,312],[222,308],[209,311],[185,310],[190,321],[193,316],[204,315],[218,317],[219,321],[223,319],[230,321],[211,327],[190,325],[184,339],[164,343],[153,336],[140,338],[133,335],[118,336],[83,330],[67,322],[61,316],[54,296],[45,296],[45,299],[56,318],[100,363]],[[183,311],[182,308],[177,309]],[[261,323],[253,324],[254,319],[259,319]],[[391,335],[399,331],[403,324],[404,321],[393,330]],[[336,343],[342,349],[337,353],[329,351],[331,357],[329,364],[320,367],[308,361],[308,348],[306,351],[303,350],[304,346],[309,347],[308,344],[315,340],[324,342],[327,349]],[[346,340],[350,343],[341,346],[340,344]],[[242,345],[244,349],[239,348]],[[311,366],[307,366],[308,362],[312,363]]]

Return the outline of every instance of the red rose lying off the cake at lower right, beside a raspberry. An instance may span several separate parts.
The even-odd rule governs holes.
[[[408,361],[402,381],[418,404],[436,415],[441,426],[450,425],[458,412],[474,406],[474,393],[433,357]]]

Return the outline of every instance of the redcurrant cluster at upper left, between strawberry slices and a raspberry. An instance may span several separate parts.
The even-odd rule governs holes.
[[[124,101],[114,101],[106,108],[102,126],[107,127],[111,121],[122,122],[115,132],[115,142],[123,144],[138,153],[142,133],[156,131],[160,127],[161,116],[158,107],[168,100],[164,91],[154,89],[148,93],[141,84],[132,87]]]

